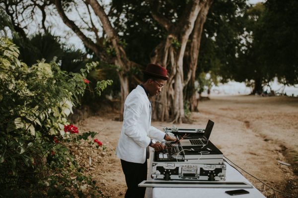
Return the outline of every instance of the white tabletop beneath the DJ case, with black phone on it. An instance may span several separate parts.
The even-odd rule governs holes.
[[[150,174],[150,172],[149,172]],[[246,182],[251,184],[236,169],[226,163],[227,182]],[[255,187],[245,188],[249,194],[229,196],[225,191],[237,188],[147,188],[146,198],[265,198]]]

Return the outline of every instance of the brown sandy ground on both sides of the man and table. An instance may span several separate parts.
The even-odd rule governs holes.
[[[208,119],[213,120],[211,141],[228,159],[269,186],[298,195],[298,98],[211,96],[211,100],[200,101],[199,109],[191,115],[192,124],[176,126],[205,128]],[[117,113],[91,116],[78,124],[81,131],[100,131],[97,138],[107,149],[85,148],[78,155],[87,173],[97,181],[104,195],[111,198],[124,197],[126,192],[120,160],[114,154],[122,126],[122,122],[115,121],[117,117]],[[152,122],[152,126],[162,130],[172,124]],[[271,189],[241,172],[265,196],[274,197]],[[276,196],[289,197],[278,192]]]

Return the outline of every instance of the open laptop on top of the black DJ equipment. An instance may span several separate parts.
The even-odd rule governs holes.
[[[209,141],[209,137],[213,128],[214,122],[211,120],[208,120],[203,138],[199,139],[187,139],[187,140],[179,140],[180,145],[182,147],[188,147],[188,146],[206,146]]]

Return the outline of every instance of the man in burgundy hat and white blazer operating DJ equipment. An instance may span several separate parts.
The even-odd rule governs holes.
[[[138,184],[147,179],[148,146],[162,150],[163,139],[175,141],[164,132],[151,126],[151,104],[149,98],[158,95],[164,86],[167,70],[156,64],[149,64],[144,72],[144,80],[126,98],[123,125],[116,155],[121,159],[127,192],[125,198],[144,198],[146,188]],[[155,142],[152,139],[159,142]]]

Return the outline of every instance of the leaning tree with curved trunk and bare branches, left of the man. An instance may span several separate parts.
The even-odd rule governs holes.
[[[23,25],[24,20],[32,21],[34,19],[34,16],[36,16],[35,7],[38,7],[42,12],[42,27],[45,27],[46,31],[47,27],[45,26],[45,17],[47,14],[52,13],[49,11],[49,8],[55,5],[63,22],[81,39],[82,43],[87,49],[91,50],[92,53],[100,60],[108,63],[114,63],[117,66],[121,85],[121,108],[123,108],[124,100],[129,93],[129,80],[126,73],[129,71],[130,67],[132,65],[136,65],[136,63],[127,59],[124,49],[119,44],[118,35],[114,31],[112,24],[104,12],[103,7],[98,3],[97,0],[29,0],[26,2],[23,2],[22,0],[16,0],[13,2],[9,0],[3,0],[1,5],[4,7],[6,13],[10,16],[11,21],[14,24],[14,29],[16,32],[22,35],[23,38],[27,38],[24,32],[26,29],[26,27]],[[84,20],[84,17],[80,15],[78,5],[85,6],[85,10],[87,10],[86,16],[89,18],[89,21]],[[72,9],[76,10],[76,14],[78,14],[81,21],[83,21],[83,25],[76,25],[74,21],[66,15],[64,10],[65,8],[71,8],[67,9],[67,11],[70,12]],[[44,13],[47,14],[44,15]],[[98,26],[98,24],[94,24],[93,22],[93,15],[97,16],[99,21],[102,23],[102,28],[104,31],[102,37],[99,36],[99,32],[101,31],[100,26]],[[88,30],[94,33],[93,37],[95,37],[95,41],[92,40],[92,37],[89,38],[84,34],[86,27]],[[106,47],[104,45],[104,40],[108,40],[108,42],[111,44],[110,54],[105,49]],[[122,117],[122,113],[120,117]]]

